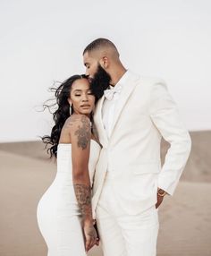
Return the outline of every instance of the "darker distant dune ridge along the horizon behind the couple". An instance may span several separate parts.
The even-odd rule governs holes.
[[[182,181],[211,182],[211,131],[190,132],[192,149],[181,176]],[[162,141],[161,158],[164,161],[168,143]],[[0,150],[29,158],[49,160],[41,141],[0,143]]]

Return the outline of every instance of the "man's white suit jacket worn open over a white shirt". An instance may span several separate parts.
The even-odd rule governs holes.
[[[190,135],[181,123],[165,81],[128,71],[118,99],[111,136],[102,121],[103,96],[97,102],[94,123],[101,153],[96,166],[92,208],[96,216],[108,167],[115,196],[127,214],[138,214],[156,204],[157,187],[173,195],[190,155]],[[161,167],[161,138],[170,143]]]

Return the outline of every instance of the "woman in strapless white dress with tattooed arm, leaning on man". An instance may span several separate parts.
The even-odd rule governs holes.
[[[50,136],[57,158],[55,181],[38,203],[38,226],[48,256],[84,256],[98,244],[91,211],[91,186],[100,146],[91,128],[96,98],[85,75],[73,75],[55,91],[57,110]]]

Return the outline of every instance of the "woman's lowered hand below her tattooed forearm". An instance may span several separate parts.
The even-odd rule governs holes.
[[[85,248],[88,252],[95,244],[99,245],[96,229],[93,225],[84,225],[83,232],[85,236]]]

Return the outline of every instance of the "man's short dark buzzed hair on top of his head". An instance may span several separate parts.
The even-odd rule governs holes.
[[[115,47],[114,43],[106,38],[97,38],[96,40],[92,41],[83,51],[83,55],[86,52],[92,52],[94,50],[100,49],[102,47],[112,47],[115,49],[115,51],[118,53],[117,48]]]

